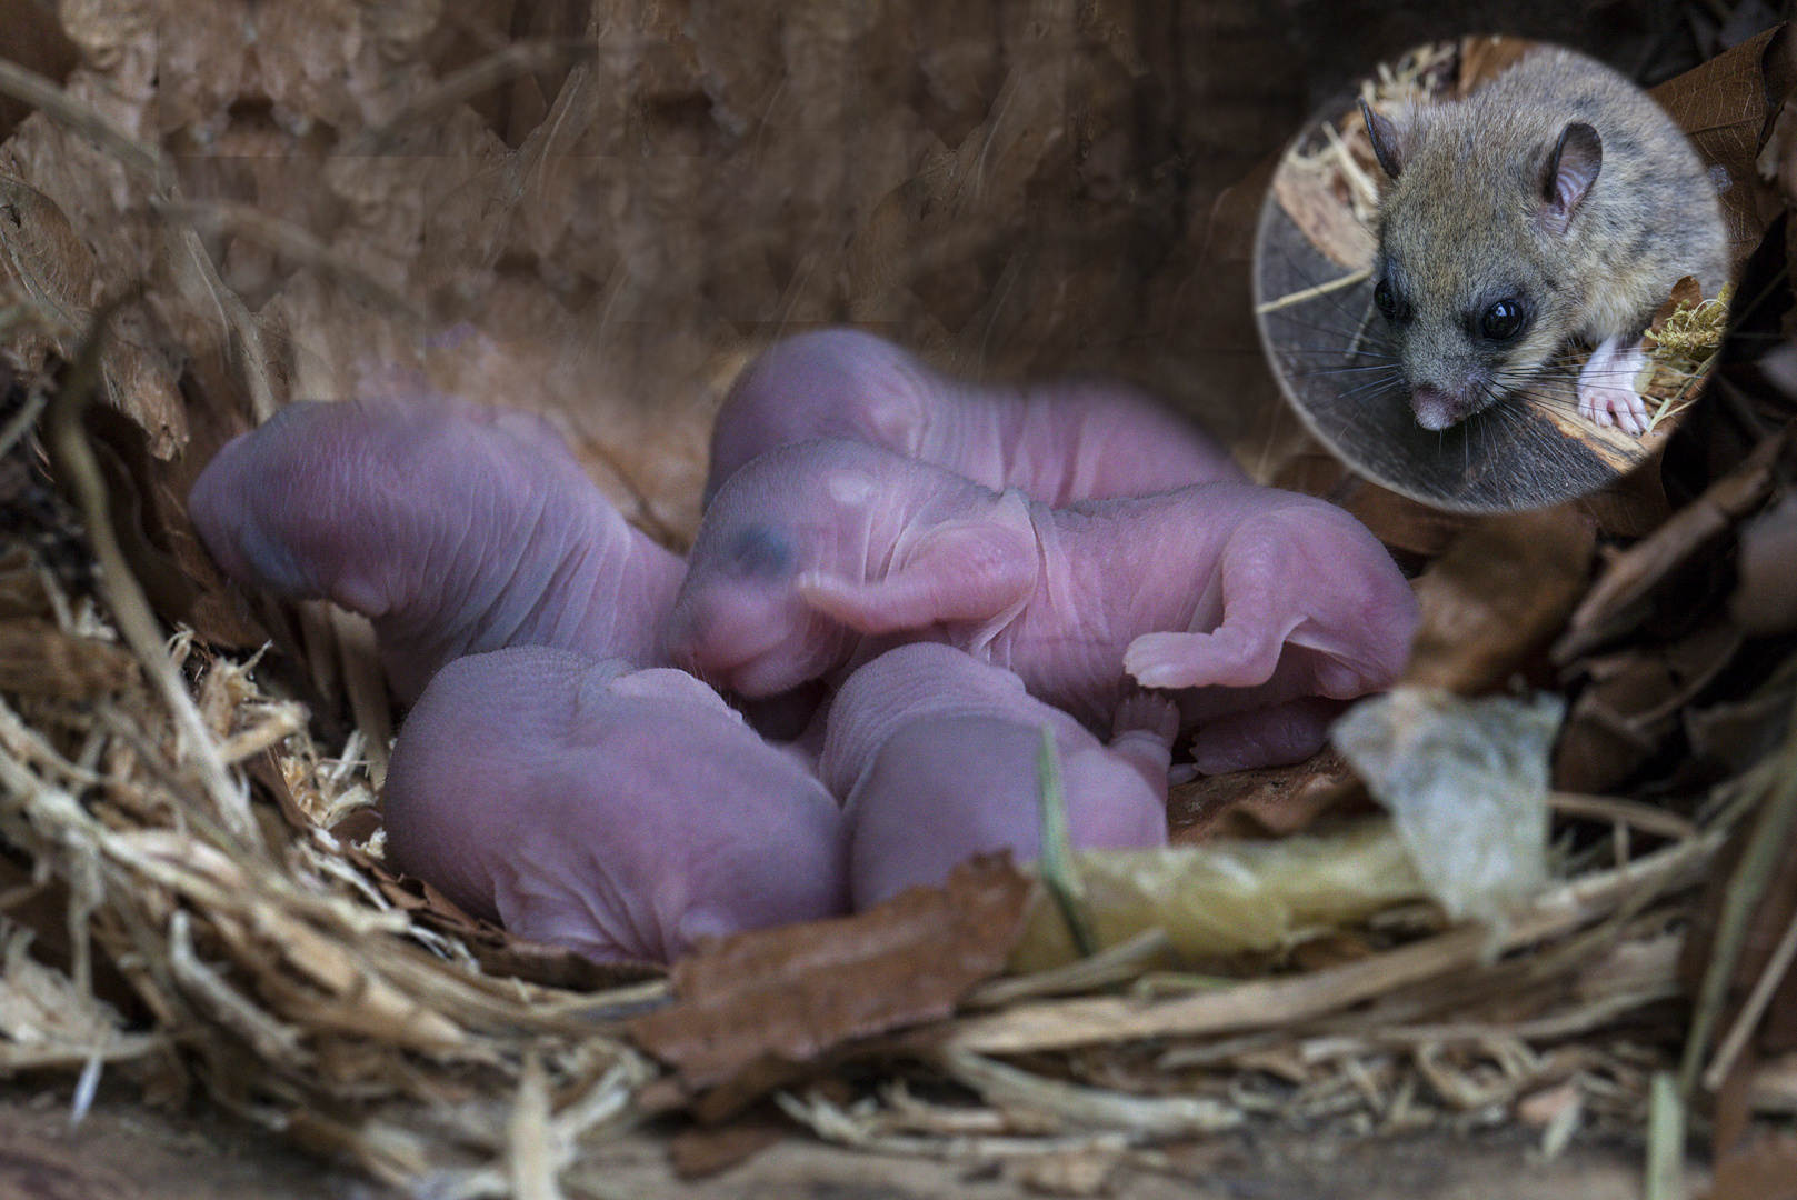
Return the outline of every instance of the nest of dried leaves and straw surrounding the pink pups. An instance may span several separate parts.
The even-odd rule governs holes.
[[[77,1108],[102,1072],[199,1090],[433,1195],[559,1195],[595,1139],[769,1103],[1060,1191],[1263,1128],[1619,1134],[1669,1187],[1696,1114],[1713,1195],[1792,1160],[1766,1135],[1797,1114],[1783,29],[1716,75],[1745,266],[1705,404],[1592,501],[1461,517],[1251,402],[1260,194],[1206,205],[1181,176],[1152,22],[216,0],[58,31],[5,7],[41,36],[0,63],[31,111],[0,147],[0,1065],[75,1074]],[[1278,52],[1240,29],[1200,32]],[[1175,798],[1186,877],[1281,914],[1220,941],[1191,931],[1211,909],[1116,916],[1093,859],[1107,949],[1042,949],[1057,909],[985,862],[663,975],[392,877],[367,631],[226,589],[181,514],[198,465],[399,365],[550,413],[677,546],[733,370],[846,320],[961,370],[1121,370],[1353,508],[1418,571],[1411,683],[1569,697],[1553,882],[1495,925],[1369,902],[1389,837],[1332,825],[1366,808],[1333,754]]]

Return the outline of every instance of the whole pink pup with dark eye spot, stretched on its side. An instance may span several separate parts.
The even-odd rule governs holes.
[[[857,442],[807,442],[717,494],[668,627],[748,697],[945,641],[1107,729],[1123,677],[1181,690],[1200,771],[1296,762],[1403,668],[1416,600],[1341,508],[1242,483],[1049,508]]]

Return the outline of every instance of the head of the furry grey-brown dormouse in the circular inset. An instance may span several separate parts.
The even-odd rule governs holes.
[[[1412,104],[1393,120],[1360,102],[1389,180],[1373,304],[1425,429],[1515,393],[1574,332],[1571,243],[1603,165],[1585,122],[1517,147],[1461,108]]]

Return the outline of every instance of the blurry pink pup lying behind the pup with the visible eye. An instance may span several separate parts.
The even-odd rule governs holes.
[[[827,329],[769,347],[737,377],[712,429],[706,503],[751,458],[814,438],[870,442],[1049,505],[1247,481],[1229,451],[1125,383],[981,386]]]

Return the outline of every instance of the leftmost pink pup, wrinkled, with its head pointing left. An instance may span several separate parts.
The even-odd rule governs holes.
[[[685,564],[528,413],[420,392],[291,404],[207,463],[189,512],[234,578],[368,616],[401,701],[510,645],[667,663]]]

